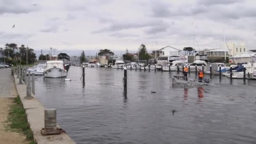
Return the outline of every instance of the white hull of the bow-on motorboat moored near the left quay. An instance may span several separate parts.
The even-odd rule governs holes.
[[[44,76],[51,78],[67,77],[67,70],[54,67],[45,70]]]

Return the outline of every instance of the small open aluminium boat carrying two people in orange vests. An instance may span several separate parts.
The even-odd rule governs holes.
[[[194,85],[194,86],[213,84],[211,82],[211,80],[205,79],[205,78],[203,80],[194,80],[192,78],[187,77],[187,80],[186,80],[186,77],[184,77],[184,76],[175,76],[175,75],[172,77],[172,82],[178,83],[178,84],[187,84],[187,85],[190,84],[190,85]]]

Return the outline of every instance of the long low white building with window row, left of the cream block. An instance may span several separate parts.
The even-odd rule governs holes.
[[[229,51],[227,48],[213,48],[213,49],[205,49],[203,51],[199,51],[199,55],[206,56],[221,56],[224,57],[226,53],[226,57],[229,57]]]

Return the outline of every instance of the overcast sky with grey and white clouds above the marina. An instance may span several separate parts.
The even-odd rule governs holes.
[[[224,33],[255,49],[256,0],[0,0],[0,47],[198,50],[223,47]]]

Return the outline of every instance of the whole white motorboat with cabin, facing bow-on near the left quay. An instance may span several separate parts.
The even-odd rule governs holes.
[[[64,69],[63,61],[47,61],[44,76],[51,78],[67,77],[67,70]]]

